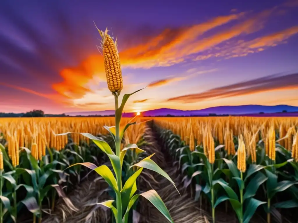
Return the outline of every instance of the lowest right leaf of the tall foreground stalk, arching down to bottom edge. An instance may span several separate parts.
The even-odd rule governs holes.
[[[174,223],[172,217],[170,216],[169,211],[167,210],[166,205],[164,204],[161,197],[159,197],[159,195],[157,194],[157,192],[155,190],[150,190],[150,191],[146,191],[142,194],[134,195],[128,203],[128,207],[126,209],[125,216],[128,215],[129,210],[134,205],[134,202],[136,202],[136,200],[139,198],[140,195],[145,197],[148,201],[150,201],[154,205],[154,207],[156,207],[160,211],[160,213],[162,213],[163,216],[169,222]],[[125,216],[122,219],[122,223],[124,223],[124,221],[125,221]]]

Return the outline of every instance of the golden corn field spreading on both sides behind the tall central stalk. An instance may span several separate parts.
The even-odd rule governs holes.
[[[148,120],[134,120],[141,124],[127,128],[121,149],[148,145],[144,133],[149,127],[143,123]],[[120,129],[128,121],[123,118]],[[164,153],[184,176],[183,188],[213,222],[219,220],[218,208],[248,223],[256,214],[267,222],[284,222],[283,213],[298,207],[298,118],[163,117],[151,123]],[[107,157],[88,137],[76,133],[91,133],[115,150],[108,134],[113,128],[103,127],[113,125],[114,117],[0,119],[2,222],[21,222],[26,211],[32,222],[42,222],[42,216],[55,210],[58,197],[78,211],[66,194],[88,171],[67,167],[101,164]],[[65,132],[70,133],[57,135]],[[123,179],[137,172],[130,167],[139,160],[138,150],[126,153]]]

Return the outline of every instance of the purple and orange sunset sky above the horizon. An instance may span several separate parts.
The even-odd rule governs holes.
[[[100,35],[118,41],[125,112],[298,106],[298,1],[4,0],[0,112],[114,109]]]

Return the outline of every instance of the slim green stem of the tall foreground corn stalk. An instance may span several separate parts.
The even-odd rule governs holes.
[[[118,121],[117,113],[116,110],[118,109],[118,95],[116,93],[114,94],[115,96],[115,127],[116,127],[116,139],[115,139],[115,146],[116,146],[116,155],[120,156],[120,123]],[[121,115],[121,114],[120,114]],[[119,119],[120,120],[120,119]],[[120,169],[117,171],[116,174],[116,179],[117,179],[117,186],[118,186],[118,192],[116,193],[116,208],[117,208],[117,213],[118,216],[115,216],[116,222],[121,223],[122,222],[122,200],[121,200],[121,194],[120,191],[122,190],[122,170]]]

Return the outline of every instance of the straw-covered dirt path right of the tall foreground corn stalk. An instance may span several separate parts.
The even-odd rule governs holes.
[[[145,149],[149,154],[156,153],[152,159],[171,177],[175,182],[177,189],[179,190],[181,196],[176,191],[174,186],[169,180],[165,179],[161,175],[143,170],[145,173],[151,174],[156,181],[150,180],[150,186],[147,188],[155,189],[159,196],[164,201],[167,206],[170,215],[175,223],[205,223],[210,220],[208,213],[199,209],[198,202],[195,202],[188,192],[183,189],[182,185],[182,175],[177,172],[177,167],[173,166],[172,161],[167,157],[166,153],[163,153],[162,149],[159,147],[157,142],[156,133],[148,128],[146,131],[146,139],[151,143],[151,146]],[[145,185],[144,185],[145,186]],[[148,186],[148,185],[147,185]],[[144,190],[144,187],[140,187]],[[168,222],[167,219],[147,200],[142,199],[141,205],[141,223],[165,223]]]

